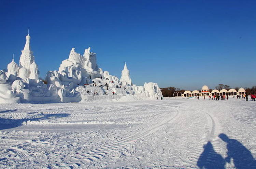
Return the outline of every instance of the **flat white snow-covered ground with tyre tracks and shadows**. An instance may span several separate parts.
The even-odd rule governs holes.
[[[253,169],[255,109],[235,98],[0,104],[0,168]]]

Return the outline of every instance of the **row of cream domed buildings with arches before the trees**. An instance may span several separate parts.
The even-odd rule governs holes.
[[[235,89],[222,89],[220,91],[214,89],[210,92],[208,86],[204,85],[202,87],[201,92],[199,92],[198,90],[194,90],[194,91],[189,91],[186,90],[184,93],[181,92],[175,92],[174,96],[182,96],[182,97],[193,97],[193,96],[214,96],[214,95],[228,95],[228,96],[236,96],[236,95],[241,95],[241,94],[245,94],[245,90],[244,88],[240,88],[238,89],[238,91],[236,91]]]

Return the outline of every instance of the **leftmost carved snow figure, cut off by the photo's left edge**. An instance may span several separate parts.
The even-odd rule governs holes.
[[[11,86],[6,83],[7,76],[4,71],[0,71],[0,103],[19,103],[19,97],[12,90]]]

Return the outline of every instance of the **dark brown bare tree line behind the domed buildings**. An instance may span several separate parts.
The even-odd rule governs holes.
[[[162,91],[162,95],[163,97],[173,97],[174,92],[181,92],[184,93],[186,90],[180,89],[180,88],[175,88],[175,87],[168,87],[168,88],[160,88]],[[215,87],[215,89],[217,89],[218,91],[222,90],[222,89],[226,89],[227,91],[230,88],[229,85],[227,84],[218,84],[218,86]],[[234,88],[236,91],[238,91],[239,87],[235,87]],[[210,92],[212,92],[213,89],[209,89]],[[199,92],[201,91],[201,89],[198,90]],[[256,93],[256,86],[253,86],[252,88],[245,88],[245,91],[247,94],[254,94]],[[180,94],[179,94],[180,95]],[[176,96],[176,94],[175,94]]]

